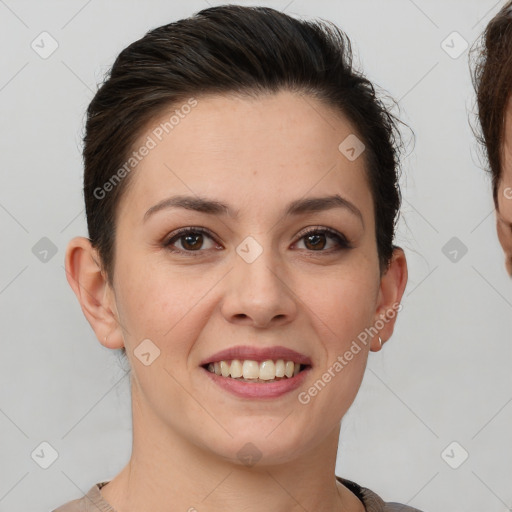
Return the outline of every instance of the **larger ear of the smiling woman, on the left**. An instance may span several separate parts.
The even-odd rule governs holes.
[[[73,238],[66,249],[66,278],[99,342],[107,348],[124,346],[115,296],[88,238]]]

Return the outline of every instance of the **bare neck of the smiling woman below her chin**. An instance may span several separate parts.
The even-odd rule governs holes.
[[[132,396],[132,455],[101,490],[116,512],[168,512],[170,504],[189,512],[364,511],[334,476],[340,425],[292,461],[265,465],[262,457],[247,466],[190,443]]]

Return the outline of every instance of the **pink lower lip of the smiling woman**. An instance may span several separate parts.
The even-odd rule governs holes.
[[[242,380],[232,379],[231,377],[222,377],[212,373],[206,368],[201,368],[208,374],[208,377],[221,388],[229,391],[233,395],[241,398],[277,398],[297,389],[307,376],[311,367],[299,372],[294,377],[277,380],[275,382],[244,382]]]

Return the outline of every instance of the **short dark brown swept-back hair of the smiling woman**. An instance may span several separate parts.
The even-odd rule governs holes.
[[[192,95],[257,96],[289,89],[345,115],[366,146],[381,270],[392,251],[401,202],[399,120],[352,66],[348,37],[334,24],[302,21],[268,7],[224,5],[148,32],[126,47],[87,110],[84,197],[90,241],[112,283],[116,210],[131,174],[97,193],[163,109]],[[112,187],[109,187],[112,188]]]

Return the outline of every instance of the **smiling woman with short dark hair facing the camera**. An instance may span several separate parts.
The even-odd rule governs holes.
[[[398,136],[327,23],[220,6],[121,52],[66,272],[126,351],[132,455],[58,512],[415,510],[335,475],[407,282]]]

